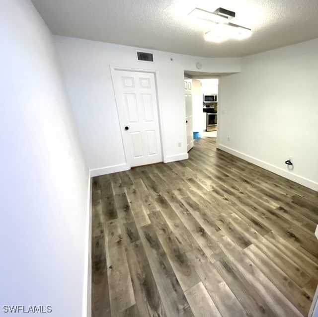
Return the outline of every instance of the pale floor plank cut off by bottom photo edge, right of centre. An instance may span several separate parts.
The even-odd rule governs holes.
[[[185,291],[184,294],[195,317],[221,317],[219,310],[215,306],[202,282],[192,286]]]

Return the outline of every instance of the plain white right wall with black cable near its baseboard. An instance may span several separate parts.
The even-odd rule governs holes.
[[[221,148],[316,190],[317,56],[318,39],[243,58],[221,78],[218,127]]]

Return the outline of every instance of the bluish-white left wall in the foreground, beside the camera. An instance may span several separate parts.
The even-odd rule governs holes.
[[[78,317],[88,169],[54,43],[29,0],[0,1],[0,38],[0,314],[51,305]]]

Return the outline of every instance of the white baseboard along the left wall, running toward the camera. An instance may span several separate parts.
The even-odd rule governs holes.
[[[91,317],[91,175],[88,171],[82,317]]]

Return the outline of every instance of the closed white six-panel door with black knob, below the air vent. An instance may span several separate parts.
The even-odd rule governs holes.
[[[155,75],[120,70],[113,74],[127,164],[161,162]]]

